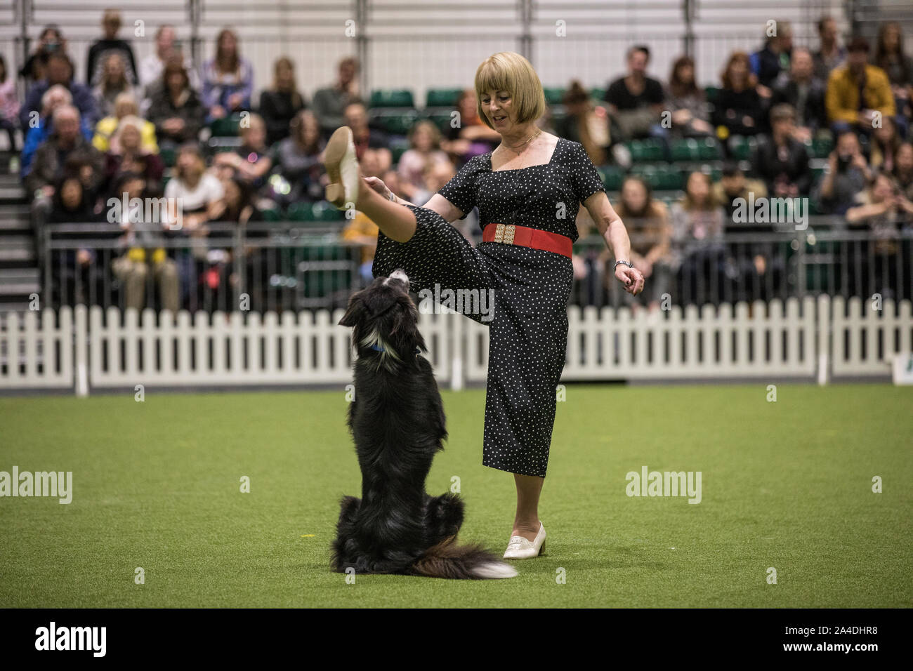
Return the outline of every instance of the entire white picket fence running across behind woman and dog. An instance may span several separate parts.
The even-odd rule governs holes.
[[[909,353],[909,301],[788,299],[719,308],[568,309],[562,382],[890,376]],[[320,385],[352,380],[342,310],[281,315],[63,308],[0,314],[0,389]],[[440,383],[484,382],[488,327],[423,313]]]

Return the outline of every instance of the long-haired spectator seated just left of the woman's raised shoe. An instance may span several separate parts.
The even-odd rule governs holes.
[[[290,135],[273,147],[273,175],[269,178],[272,199],[280,207],[299,200],[323,199],[326,171],[320,122],[310,110],[300,110],[289,124]]]

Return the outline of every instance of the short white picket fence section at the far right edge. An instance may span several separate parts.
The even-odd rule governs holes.
[[[913,352],[910,301],[880,308],[871,299],[831,299],[831,371],[834,375],[889,376],[898,354]]]

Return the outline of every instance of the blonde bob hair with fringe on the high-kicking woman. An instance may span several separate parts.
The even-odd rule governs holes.
[[[513,51],[500,51],[482,61],[476,70],[478,118],[491,130],[495,127],[482,109],[482,93],[508,91],[517,123],[536,121],[545,113],[545,92],[530,61]]]

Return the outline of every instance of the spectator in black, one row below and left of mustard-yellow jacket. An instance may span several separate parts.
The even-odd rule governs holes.
[[[754,155],[754,172],[775,197],[808,195],[812,168],[803,142],[796,140],[795,110],[782,103],[771,110],[771,135],[761,138]]]

